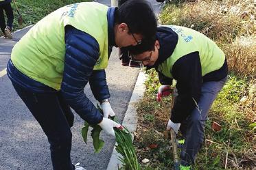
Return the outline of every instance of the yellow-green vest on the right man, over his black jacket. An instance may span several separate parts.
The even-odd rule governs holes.
[[[162,26],[169,27],[178,34],[178,42],[174,52],[157,68],[157,70],[162,72],[165,76],[173,78],[171,71],[174,63],[184,55],[196,51],[199,52],[200,56],[202,76],[214,70],[218,70],[223,66],[225,60],[223,51],[204,34],[193,29],[176,25]]]

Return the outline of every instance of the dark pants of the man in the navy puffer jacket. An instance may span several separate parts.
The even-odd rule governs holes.
[[[45,93],[32,92],[15,81],[12,81],[12,85],[47,135],[54,170],[73,170],[70,128],[73,126],[74,115],[60,91],[49,87]]]

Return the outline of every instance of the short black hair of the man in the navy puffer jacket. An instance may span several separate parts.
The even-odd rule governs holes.
[[[117,9],[115,23],[126,23],[130,33],[141,34],[143,39],[156,35],[156,16],[150,3],[145,0],[126,0]]]

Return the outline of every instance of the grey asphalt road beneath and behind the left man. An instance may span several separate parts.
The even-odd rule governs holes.
[[[98,2],[110,5],[110,0]],[[154,0],[151,2],[156,12],[159,12],[159,3]],[[30,27],[16,31],[12,40],[0,38],[0,169],[51,169],[47,137],[36,119],[17,96],[4,71],[8,59],[10,59],[12,47],[29,29]],[[113,48],[106,75],[111,94],[111,106],[119,122],[124,118],[138,74],[139,68],[121,66],[117,48]],[[84,92],[92,102],[96,103],[89,85],[86,86]],[[105,170],[113,151],[115,139],[103,132],[104,148],[99,154],[95,154],[91,137],[88,138],[87,145],[82,140],[81,128],[84,121],[76,113],[74,115],[75,122],[71,128],[73,133],[72,162],[74,164],[80,162],[87,170]]]

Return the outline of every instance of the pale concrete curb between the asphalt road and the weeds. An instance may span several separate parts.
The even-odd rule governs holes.
[[[144,91],[146,89],[144,82],[146,81],[146,75],[143,73],[143,71],[139,72],[139,76],[137,79],[137,82],[135,84],[135,89],[132,92],[132,97],[130,98],[130,102],[128,104],[128,109],[126,111],[126,115],[124,116],[124,120],[122,125],[126,126],[128,130],[133,133],[135,132],[137,128],[137,111],[135,108],[135,103],[138,102],[144,94]],[[132,134],[133,137],[133,134]],[[115,143],[117,145],[117,143]],[[118,154],[115,150],[115,147],[113,148],[112,155],[110,157],[110,161],[108,163],[107,170],[118,170],[118,167],[121,167],[121,161],[119,160],[119,157],[121,154]]]

